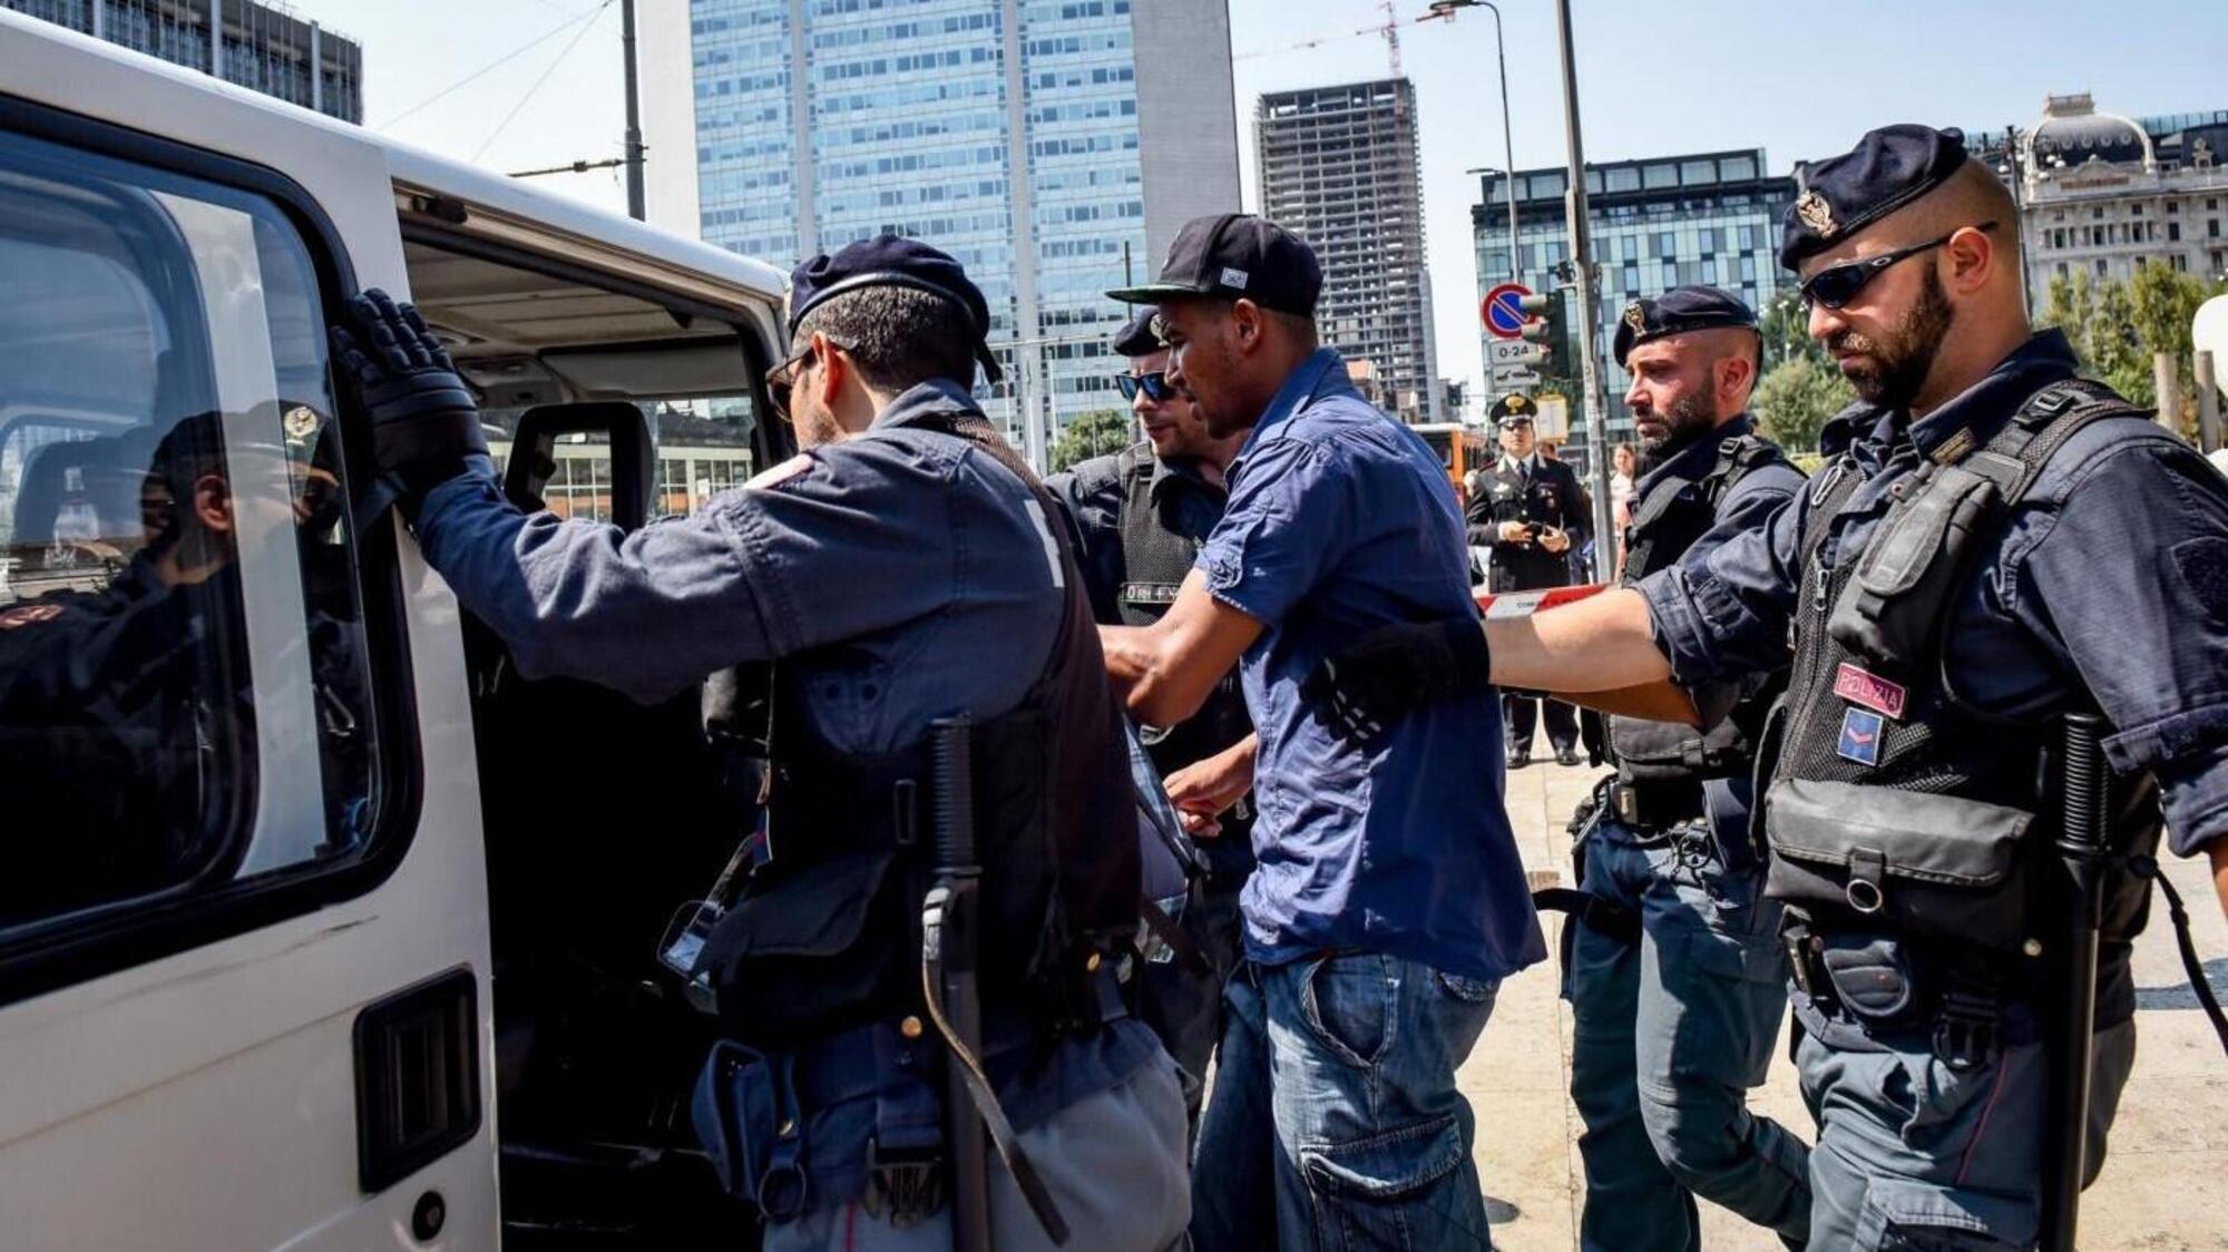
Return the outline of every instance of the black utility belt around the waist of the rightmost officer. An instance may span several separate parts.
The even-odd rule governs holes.
[[[1805,1029],[1843,1052],[1889,1052],[1876,1034],[1925,1031],[1936,1058],[1974,1069],[2043,1036],[2045,971],[2019,956],[1820,929],[1802,909],[1780,920],[1787,974],[1814,1014]]]

